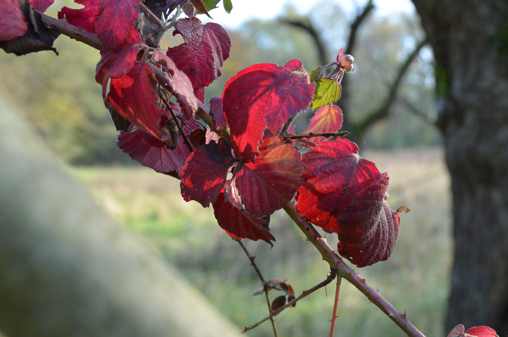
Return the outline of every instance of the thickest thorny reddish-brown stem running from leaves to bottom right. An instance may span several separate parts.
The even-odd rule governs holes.
[[[307,239],[319,250],[323,259],[328,262],[330,268],[337,268],[337,273],[344,277],[348,282],[353,284],[360,290],[367,298],[374,303],[382,312],[384,312],[392,321],[395,322],[409,337],[425,337],[414,325],[407,320],[405,314],[399,313],[392,304],[390,304],[381,294],[369,286],[365,279],[361,278],[355,270],[351,269],[340,258],[332,247],[326,242],[312,226],[312,224],[305,219],[296,210],[295,204],[289,202],[284,206],[284,211],[295,221],[298,228],[307,236]]]

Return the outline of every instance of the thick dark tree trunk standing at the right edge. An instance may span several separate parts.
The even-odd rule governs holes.
[[[436,124],[452,177],[455,258],[445,328],[488,325],[506,336],[508,5],[412,1],[434,49]]]

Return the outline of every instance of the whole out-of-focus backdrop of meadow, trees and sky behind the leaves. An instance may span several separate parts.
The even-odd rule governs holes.
[[[240,2],[233,0],[231,14],[220,8],[221,3],[210,12],[228,29],[232,50],[223,75],[206,89],[206,102],[221,95],[231,76],[255,63],[282,65],[298,58],[310,72],[325,60],[334,61],[348,43],[351,24],[368,5],[272,0],[252,8],[251,2]],[[452,245],[450,178],[442,139],[433,126],[433,54],[424,43],[420,45],[424,34],[409,0],[372,5],[358,26],[352,51],[355,70],[346,75],[338,105],[347,125],[356,125],[351,131],[361,155],[375,162],[380,172],[388,172],[392,208],[407,205],[412,211],[401,215],[392,257],[357,271],[374,288],[378,285],[399,311],[406,310],[417,328],[429,337],[438,336],[449,292]],[[71,1],[59,1],[47,14],[56,16],[62,6],[79,8]],[[179,36],[167,34],[163,47],[181,42]],[[99,51],[66,36],[54,46],[58,56],[51,51],[23,57],[0,52],[3,94],[25,112],[69,173],[115,219],[139,233],[155,254],[176,265],[235,324],[243,327],[265,317],[265,298],[252,297],[261,286],[259,279],[238,243],[217,226],[213,210],[185,203],[178,180],[141,166],[116,147],[117,132],[104,107],[101,86],[94,81]],[[393,99],[392,93],[396,93]],[[386,114],[366,123],[387,103]],[[300,131],[309,116],[307,112],[298,119]],[[326,278],[327,264],[283,211],[272,216],[270,228],[277,240],[273,248],[265,242],[246,242],[251,254],[257,255],[265,279],[287,279],[300,294]],[[332,247],[337,244],[336,235],[328,235],[327,240]],[[280,336],[326,335],[334,287],[327,291],[328,295],[317,291],[277,316]],[[278,296],[275,292],[272,299]],[[335,335],[405,335],[347,282],[342,283],[340,299]],[[273,331],[265,323],[249,335],[270,336]]]

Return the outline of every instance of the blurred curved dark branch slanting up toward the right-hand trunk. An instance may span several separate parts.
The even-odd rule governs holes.
[[[416,57],[420,53],[420,50],[426,44],[427,44],[427,39],[423,39],[415,47],[415,50],[413,50],[413,52],[408,55],[406,61],[404,62],[402,67],[400,67],[397,77],[395,78],[395,81],[392,83],[392,86],[390,87],[390,92],[389,92],[385,102],[379,108],[371,111],[369,113],[369,115],[367,116],[367,118],[365,120],[363,120],[363,122],[358,124],[358,129],[360,131],[365,130],[373,123],[388,116],[390,108],[392,107],[393,103],[395,102],[395,98],[397,97],[397,90],[399,89],[399,85],[402,80],[402,77],[405,75],[405,73],[406,73],[407,69],[409,68],[409,66],[411,65],[411,63],[416,59]]]

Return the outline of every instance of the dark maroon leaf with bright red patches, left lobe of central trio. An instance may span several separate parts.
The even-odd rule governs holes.
[[[236,159],[229,144],[220,139],[196,149],[182,169],[180,189],[185,201],[196,200],[203,207],[217,201],[226,183],[226,175]]]

